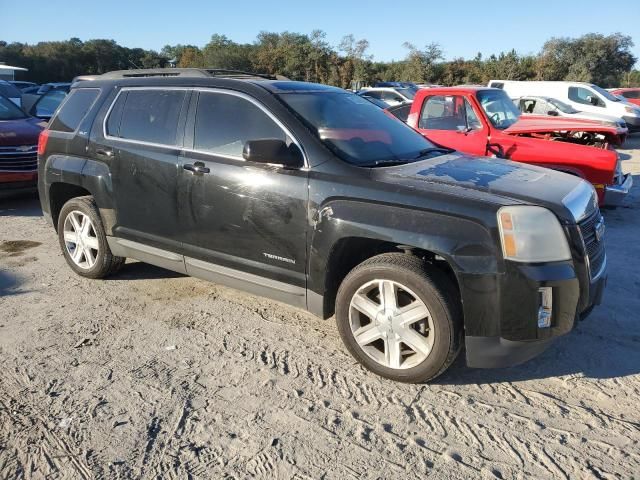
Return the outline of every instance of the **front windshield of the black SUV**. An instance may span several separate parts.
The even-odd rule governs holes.
[[[279,97],[330,150],[351,164],[407,163],[447,153],[358,95],[310,92]]]

